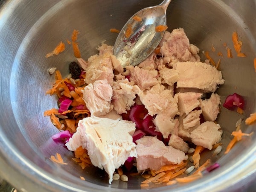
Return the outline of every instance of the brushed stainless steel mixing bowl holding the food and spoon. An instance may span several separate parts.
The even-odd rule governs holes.
[[[0,9],[0,175],[20,191],[114,191],[140,189],[140,177],[127,183],[114,181],[96,168],[80,169],[71,160],[73,154],[50,137],[58,130],[45,110],[57,107],[54,96],[45,95],[52,86],[48,69],[57,67],[68,74],[74,61],[72,48],[58,56],[45,58],[59,41],[70,39],[73,29],[80,31],[79,47],[87,59],[97,52],[102,41],[113,45],[117,34],[138,10],[159,4],[161,0],[7,0]],[[210,50],[217,61],[217,51],[224,53],[220,70],[225,84],[218,89],[221,101],[234,92],[246,100],[244,114],[221,108],[218,123],[224,130],[223,148],[231,140],[239,118],[256,112],[256,1],[255,0],[173,0],[167,10],[169,31],[182,27],[192,44]],[[237,58],[231,35],[237,31],[246,58]],[[233,49],[227,58],[224,42]],[[201,54],[204,59],[204,55]],[[256,126],[246,126],[246,133]],[[223,150],[224,151],[224,150]],[[223,151],[212,161],[221,167],[204,177],[183,185],[163,186],[149,191],[235,191],[244,189],[256,178],[256,134],[239,142],[232,151]],[[68,166],[49,160],[60,153]],[[204,153],[202,159],[210,157]],[[202,161],[203,161],[202,160]],[[84,176],[85,181],[79,176]]]

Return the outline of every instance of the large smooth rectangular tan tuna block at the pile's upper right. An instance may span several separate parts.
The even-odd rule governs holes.
[[[178,62],[173,68],[179,72],[177,88],[195,88],[214,92],[218,84],[224,84],[221,71],[202,62]]]

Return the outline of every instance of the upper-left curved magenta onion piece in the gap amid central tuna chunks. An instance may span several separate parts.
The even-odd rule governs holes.
[[[148,110],[143,105],[134,105],[131,108],[129,118],[132,122],[135,122],[138,129],[143,129],[142,122]]]

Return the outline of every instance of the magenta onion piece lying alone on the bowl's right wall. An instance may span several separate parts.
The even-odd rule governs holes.
[[[233,110],[235,107],[239,107],[241,109],[244,108],[244,99],[241,95],[234,93],[233,95],[227,96],[224,104],[224,108],[229,110]]]

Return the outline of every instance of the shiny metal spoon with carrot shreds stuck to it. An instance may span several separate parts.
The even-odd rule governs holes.
[[[113,54],[122,66],[137,65],[144,61],[163,38],[163,32],[156,32],[159,25],[166,25],[166,9],[171,0],[164,0],[157,6],[147,7],[134,14],[120,31],[113,49]],[[141,21],[134,20],[134,16]],[[137,18],[138,18],[137,17]],[[125,36],[127,29],[132,34]]]

